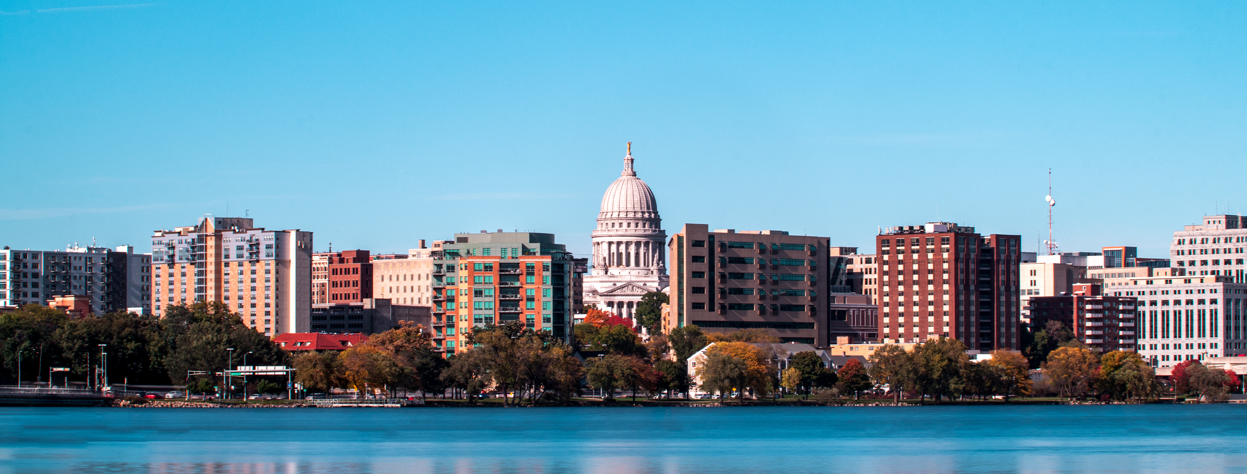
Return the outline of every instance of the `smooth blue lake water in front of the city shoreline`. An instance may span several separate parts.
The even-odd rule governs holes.
[[[0,409],[0,473],[1243,473],[1247,405]]]

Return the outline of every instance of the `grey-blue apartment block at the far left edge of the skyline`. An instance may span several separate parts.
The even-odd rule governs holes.
[[[0,306],[47,304],[80,296],[92,313],[151,308],[150,254],[133,247],[0,251]]]

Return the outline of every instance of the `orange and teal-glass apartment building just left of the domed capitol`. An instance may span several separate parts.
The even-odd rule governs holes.
[[[456,233],[453,242],[434,241],[430,258],[434,327],[445,322],[448,353],[463,348],[473,328],[511,321],[570,342],[579,276],[552,233]]]

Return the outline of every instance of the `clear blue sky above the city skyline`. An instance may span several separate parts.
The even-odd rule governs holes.
[[[131,0],[133,1],[133,0]],[[0,0],[0,243],[244,210],[318,249],[554,232],[632,141],[663,226],[940,218],[1167,253],[1247,207],[1247,2]]]

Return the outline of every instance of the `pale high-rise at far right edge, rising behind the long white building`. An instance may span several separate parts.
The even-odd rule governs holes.
[[[1225,276],[1235,283],[1247,283],[1245,247],[1247,220],[1243,216],[1203,216],[1202,225],[1173,232],[1170,259],[1193,277]]]

